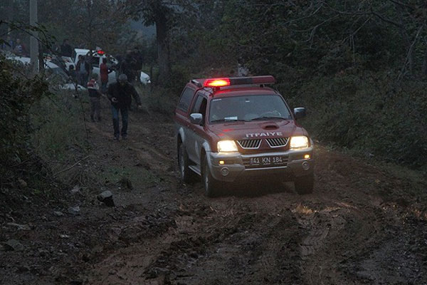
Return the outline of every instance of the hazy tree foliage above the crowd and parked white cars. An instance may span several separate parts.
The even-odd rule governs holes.
[[[11,22],[28,22],[28,1],[0,4],[0,19],[8,18]],[[73,46],[93,49],[100,46],[109,53],[120,51],[135,39],[127,21],[125,11],[117,1],[38,1],[38,24],[46,26],[48,33],[58,38],[60,43],[69,38]],[[12,35],[26,38],[23,31],[13,31]],[[25,42],[28,45],[28,41]]]

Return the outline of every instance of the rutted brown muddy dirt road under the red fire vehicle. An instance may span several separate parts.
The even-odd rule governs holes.
[[[179,181],[171,121],[132,113],[120,142],[109,120],[89,124],[80,214],[3,224],[24,250],[0,251],[0,284],[427,284],[427,185],[413,172],[317,146],[312,195],[259,184],[212,199]]]

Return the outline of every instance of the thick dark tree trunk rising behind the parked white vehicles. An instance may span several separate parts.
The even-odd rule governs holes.
[[[170,77],[169,38],[166,15],[157,11],[156,17],[157,53],[159,56],[159,82],[167,83]]]

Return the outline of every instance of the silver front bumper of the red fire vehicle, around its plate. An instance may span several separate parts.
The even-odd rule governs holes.
[[[211,175],[219,181],[237,182],[242,180],[292,180],[295,177],[311,175],[314,171],[313,148],[301,150],[287,150],[284,152],[262,152],[251,155],[242,155],[239,152],[208,152],[208,163]],[[310,159],[304,159],[310,155]],[[287,157],[285,165],[269,167],[248,167],[248,160],[253,157]],[[219,161],[223,160],[223,165]],[[246,162],[246,165],[245,163]]]

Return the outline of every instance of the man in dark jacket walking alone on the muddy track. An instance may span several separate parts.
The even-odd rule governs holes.
[[[127,82],[126,74],[120,74],[117,82],[110,84],[107,91],[108,99],[111,101],[112,125],[114,127],[114,139],[127,139],[127,118],[132,97],[137,101],[138,108],[141,107],[141,99],[137,90]],[[119,125],[119,110],[122,113],[122,130]]]

